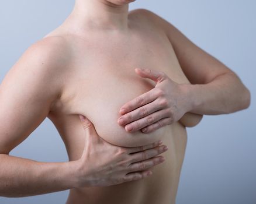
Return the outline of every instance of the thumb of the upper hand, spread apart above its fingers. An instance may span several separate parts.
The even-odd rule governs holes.
[[[154,69],[141,69],[141,68],[136,68],[135,69],[136,73],[139,74],[143,78],[148,78],[152,79],[155,81],[155,83],[159,83],[162,80],[166,79],[166,75],[164,72],[157,71]]]

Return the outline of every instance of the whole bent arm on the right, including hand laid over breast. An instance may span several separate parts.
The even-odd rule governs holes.
[[[193,44],[167,20],[150,10],[136,10],[143,14],[139,16],[146,22],[166,35],[192,84],[180,85],[159,71],[139,71],[141,77],[154,80],[156,85],[120,108],[123,116],[117,122],[125,125],[126,131],[143,128],[141,131],[148,133],[176,121],[184,126],[195,126],[204,114],[228,114],[250,105],[250,92],[236,73]],[[161,108],[158,113],[154,113],[156,108]],[[192,121],[192,117],[195,120]]]

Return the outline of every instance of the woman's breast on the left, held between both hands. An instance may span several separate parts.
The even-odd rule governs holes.
[[[103,71],[102,71],[103,72]],[[126,132],[117,124],[120,107],[127,101],[154,88],[154,83],[141,79],[135,72],[108,69],[103,74],[89,71],[69,86],[65,97],[65,111],[85,115],[101,138],[117,146],[135,147],[162,139],[166,127],[152,133]]]

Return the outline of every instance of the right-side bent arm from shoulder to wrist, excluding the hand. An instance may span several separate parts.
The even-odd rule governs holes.
[[[250,91],[240,78],[222,62],[193,44],[177,28],[164,19],[164,27],[178,61],[192,85],[184,85],[184,93],[196,114],[229,114],[248,108]]]

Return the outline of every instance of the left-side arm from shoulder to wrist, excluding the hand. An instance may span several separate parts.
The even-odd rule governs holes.
[[[50,38],[33,44],[1,83],[0,196],[31,196],[74,187],[72,163],[9,156],[43,122],[60,93],[60,43]]]

